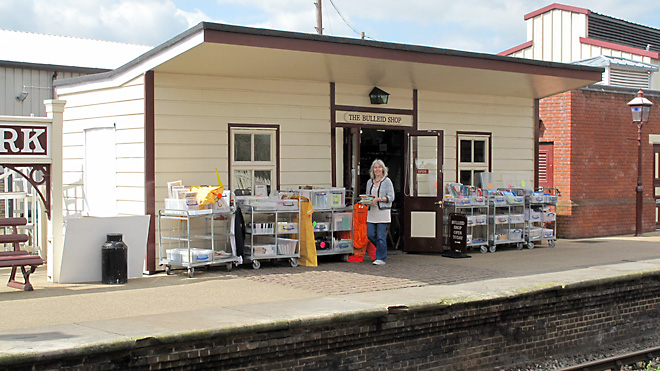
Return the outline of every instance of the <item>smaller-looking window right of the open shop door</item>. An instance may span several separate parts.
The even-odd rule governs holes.
[[[480,173],[488,169],[490,135],[458,135],[458,181],[481,187]]]

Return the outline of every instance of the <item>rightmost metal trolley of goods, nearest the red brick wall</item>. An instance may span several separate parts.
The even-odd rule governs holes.
[[[557,188],[539,188],[525,197],[525,241],[533,249],[543,241],[555,247],[557,241]]]

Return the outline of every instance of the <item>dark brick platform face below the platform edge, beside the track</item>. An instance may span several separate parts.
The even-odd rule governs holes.
[[[5,370],[492,370],[658,334],[660,275],[0,357]]]

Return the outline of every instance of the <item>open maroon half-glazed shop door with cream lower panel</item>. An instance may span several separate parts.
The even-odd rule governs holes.
[[[406,252],[442,252],[442,131],[409,132],[403,212]]]

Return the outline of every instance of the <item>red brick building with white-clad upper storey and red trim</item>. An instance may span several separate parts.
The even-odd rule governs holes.
[[[539,102],[538,178],[540,186],[561,191],[557,235],[635,232],[638,141],[627,103],[639,89],[655,103],[641,140],[643,231],[655,230],[660,30],[557,3],[524,19],[527,41],[500,55],[604,68],[600,83]]]

